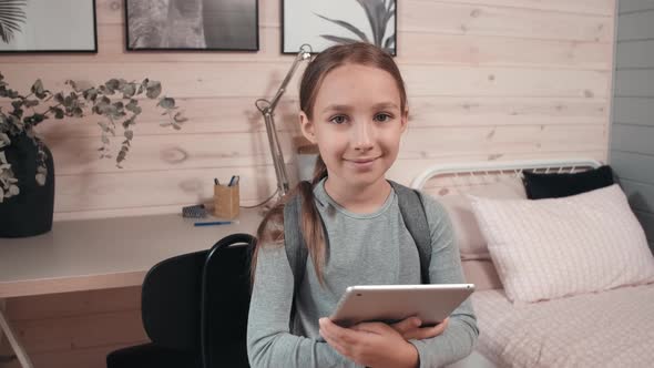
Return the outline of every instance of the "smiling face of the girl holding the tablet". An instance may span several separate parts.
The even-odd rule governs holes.
[[[318,145],[329,181],[364,187],[385,181],[407,129],[407,112],[400,110],[400,92],[388,72],[346,64],[325,76],[313,119],[303,112],[300,124]]]

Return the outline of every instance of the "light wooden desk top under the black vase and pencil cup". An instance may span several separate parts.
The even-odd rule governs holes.
[[[48,234],[0,238],[0,298],[141,285],[160,260],[233,233],[254,235],[262,217],[242,209],[237,219],[200,227],[181,215],[62,221]]]

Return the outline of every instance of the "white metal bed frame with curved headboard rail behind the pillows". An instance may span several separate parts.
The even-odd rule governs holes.
[[[432,178],[453,177],[461,183],[477,184],[490,183],[493,176],[515,175],[521,176],[523,171],[534,171],[542,173],[574,173],[589,168],[600,167],[601,162],[590,159],[570,159],[570,160],[532,160],[532,161],[492,161],[492,162],[472,162],[460,164],[437,164],[425,170],[412,182],[411,187],[422,190]],[[467,358],[461,359],[449,368],[497,368],[498,366],[484,357],[481,352],[474,350]]]

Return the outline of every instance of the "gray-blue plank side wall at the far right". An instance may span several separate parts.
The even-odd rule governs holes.
[[[654,252],[654,1],[621,0],[610,161]]]

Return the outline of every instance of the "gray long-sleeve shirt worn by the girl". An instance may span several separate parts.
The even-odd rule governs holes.
[[[395,192],[371,214],[355,214],[325,192],[325,181],[314,190],[329,247],[320,286],[314,264],[307,259],[293,330],[293,272],[283,244],[263,244],[258,253],[247,326],[247,351],[253,367],[358,367],[331,348],[318,333],[318,319],[329,316],[348,286],[420,284],[418,248],[406,228]],[[422,195],[431,232],[429,265],[432,284],[463,283],[459,248],[444,208]],[[439,367],[466,357],[479,331],[470,300],[450,316],[437,337],[410,340],[418,349],[420,367]]]

